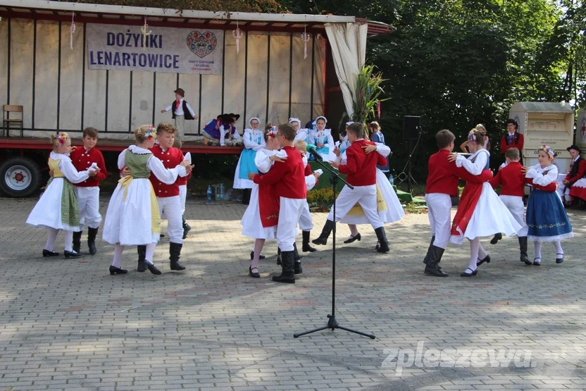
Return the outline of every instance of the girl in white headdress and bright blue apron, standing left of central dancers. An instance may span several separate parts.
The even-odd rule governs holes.
[[[258,173],[254,165],[254,157],[256,156],[256,151],[266,146],[263,131],[258,129],[260,123],[261,120],[258,118],[250,118],[249,124],[251,128],[244,130],[244,136],[242,136],[244,139],[244,149],[242,149],[242,154],[240,154],[234,175],[233,187],[235,189],[252,189],[252,185],[254,185],[254,182],[249,180],[248,174]]]

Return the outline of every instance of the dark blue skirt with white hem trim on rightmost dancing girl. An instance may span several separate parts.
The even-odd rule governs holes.
[[[568,213],[556,192],[533,189],[527,204],[528,239],[557,242],[573,237]]]

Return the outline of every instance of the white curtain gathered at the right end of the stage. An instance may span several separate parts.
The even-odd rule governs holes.
[[[332,58],[346,113],[354,114],[353,102],[358,100],[356,80],[366,61],[366,23],[326,23],[325,32],[332,48]]]

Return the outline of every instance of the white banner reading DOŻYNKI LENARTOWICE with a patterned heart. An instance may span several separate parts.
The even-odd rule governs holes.
[[[223,30],[88,23],[89,69],[162,73],[222,73]]]

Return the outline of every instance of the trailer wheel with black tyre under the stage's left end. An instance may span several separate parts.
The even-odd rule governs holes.
[[[0,190],[8,197],[29,197],[41,182],[39,165],[31,159],[15,157],[0,166]]]

